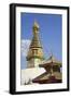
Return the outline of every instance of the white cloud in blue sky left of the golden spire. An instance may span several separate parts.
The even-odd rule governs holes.
[[[24,57],[27,56],[27,52],[28,52],[28,49],[29,49],[29,45],[30,45],[30,40],[29,39],[22,39],[20,50],[22,50],[22,54]]]

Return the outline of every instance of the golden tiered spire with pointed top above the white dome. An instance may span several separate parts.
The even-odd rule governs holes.
[[[27,54],[28,61],[34,58],[38,58],[41,60],[43,59],[43,49],[39,38],[39,29],[40,29],[39,24],[34,21],[34,24],[32,26],[33,37]]]

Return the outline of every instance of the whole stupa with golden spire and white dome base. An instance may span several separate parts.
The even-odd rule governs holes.
[[[22,70],[22,85],[34,84],[32,79],[45,72],[39,64],[44,60],[43,48],[39,37],[40,26],[34,21],[32,26],[32,39],[27,52],[27,69]]]

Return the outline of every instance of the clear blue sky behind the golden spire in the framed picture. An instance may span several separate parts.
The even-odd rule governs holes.
[[[40,14],[40,13],[22,13],[20,14],[20,40],[32,38],[32,26],[34,20],[40,26],[40,40],[43,46],[45,58],[48,58],[51,52],[61,61],[62,59],[62,17],[60,14]],[[23,53],[23,52],[22,52]],[[20,54],[22,69],[25,69],[26,57]]]

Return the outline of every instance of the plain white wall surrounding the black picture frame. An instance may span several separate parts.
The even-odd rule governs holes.
[[[70,98],[71,91],[68,93],[48,93],[34,95],[12,96],[9,91],[9,4],[18,3],[40,3],[40,4],[58,4],[70,5],[71,0],[0,0],[0,98]]]

